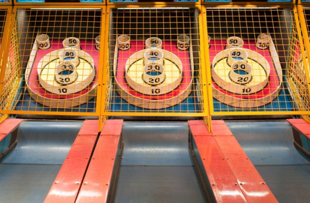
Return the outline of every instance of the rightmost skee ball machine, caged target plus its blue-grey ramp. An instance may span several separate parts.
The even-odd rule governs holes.
[[[299,188],[297,180],[302,185],[308,184],[304,178],[309,180],[309,159],[304,159],[309,158],[309,138],[300,129],[308,124],[289,119],[292,131],[283,121],[309,115],[309,41],[300,27],[305,21],[294,3],[283,2],[205,3],[202,13],[212,118],[235,120],[227,125],[279,202],[306,202],[306,190],[294,188]],[[226,146],[233,142],[217,140]]]

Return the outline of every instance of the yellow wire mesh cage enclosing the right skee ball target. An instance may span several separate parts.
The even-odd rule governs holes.
[[[309,113],[294,9],[205,8],[212,114]]]

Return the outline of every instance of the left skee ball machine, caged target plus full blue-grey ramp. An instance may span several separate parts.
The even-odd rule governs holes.
[[[77,119],[100,114],[105,2],[60,2],[1,7],[6,43],[1,44],[1,121],[13,114],[25,122],[1,123],[0,202],[43,202],[81,129]],[[41,120],[45,118],[49,120]],[[79,136],[82,145],[94,144],[98,122],[92,128],[93,136]],[[20,193],[14,195],[10,188]]]

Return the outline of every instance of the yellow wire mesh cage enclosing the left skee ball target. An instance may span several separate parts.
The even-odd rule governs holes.
[[[10,77],[21,82],[3,86],[0,102],[8,101],[6,89],[17,92],[10,99],[15,105],[3,110],[18,114],[98,115],[103,9],[15,9],[8,58],[16,70]]]

